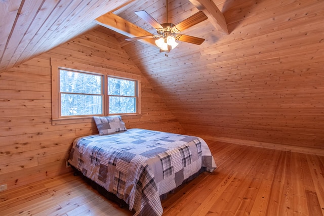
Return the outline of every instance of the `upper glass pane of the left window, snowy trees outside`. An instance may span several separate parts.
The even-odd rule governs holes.
[[[60,92],[101,95],[101,77],[89,73],[60,70]]]

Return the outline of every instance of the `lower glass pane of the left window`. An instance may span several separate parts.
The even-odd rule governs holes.
[[[102,114],[102,96],[61,94],[61,116]]]

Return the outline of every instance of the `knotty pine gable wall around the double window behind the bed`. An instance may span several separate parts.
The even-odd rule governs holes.
[[[117,40],[97,30],[0,74],[0,184],[8,189],[70,171],[65,167],[76,137],[98,133],[92,120],[52,125],[50,58],[141,75]],[[127,128],[183,133],[168,107],[142,77],[142,115]]]

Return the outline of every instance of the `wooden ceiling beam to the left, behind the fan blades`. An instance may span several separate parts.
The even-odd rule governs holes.
[[[106,28],[109,28],[119,34],[123,34],[128,37],[140,37],[140,36],[146,36],[146,35],[153,35],[148,31],[145,31],[144,29],[140,28],[137,25],[134,25],[133,23],[113,14],[113,13],[106,13],[97,19],[95,19],[95,22],[99,25],[102,25]],[[145,44],[155,46],[155,40],[153,38],[148,39],[141,39],[139,40],[141,42],[144,42]]]

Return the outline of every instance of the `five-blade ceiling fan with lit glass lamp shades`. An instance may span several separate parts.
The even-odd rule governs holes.
[[[151,15],[149,15],[146,11],[135,11],[140,18],[148,22],[151,26],[153,26],[157,35],[147,35],[141,37],[132,37],[126,38],[128,41],[145,39],[145,38],[158,38],[155,40],[155,44],[160,48],[160,52],[170,52],[171,48],[174,49],[178,43],[176,40],[189,42],[191,44],[200,45],[205,41],[204,38],[189,36],[185,34],[179,34],[181,31],[198,24],[204,20],[207,20],[207,16],[204,12],[199,11],[194,15],[188,17],[177,25],[168,22],[168,0],[166,0],[167,6],[167,22],[159,24]]]

